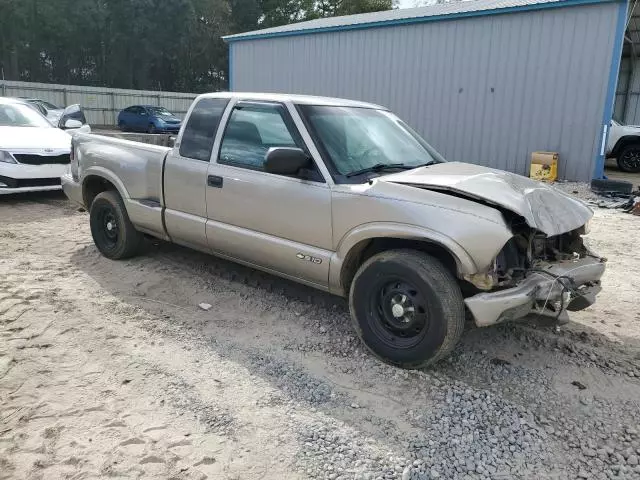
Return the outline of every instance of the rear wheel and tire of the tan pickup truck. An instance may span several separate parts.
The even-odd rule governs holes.
[[[93,241],[105,257],[121,260],[139,252],[143,235],[138,232],[118,192],[99,193],[91,203],[89,224]]]

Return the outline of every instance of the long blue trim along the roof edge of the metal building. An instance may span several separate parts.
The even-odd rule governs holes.
[[[428,17],[412,17],[412,18],[399,18],[396,20],[380,20],[377,22],[373,21],[373,22],[367,22],[367,23],[357,23],[352,25],[336,25],[333,27],[307,28],[302,30],[289,30],[285,32],[260,33],[260,31],[258,30],[256,33],[246,35],[243,37],[234,37],[234,36],[222,37],[222,40],[224,40],[226,43],[231,44],[233,42],[242,42],[245,40],[256,40],[261,38],[291,37],[296,35],[310,35],[313,33],[392,27],[395,25],[411,25],[414,23],[437,22],[440,20],[454,20],[458,18],[482,17],[487,15],[500,15],[504,13],[514,13],[514,12],[530,12],[533,10],[546,10],[550,8],[572,7],[576,5],[592,5],[596,3],[613,3],[617,1],[619,0],[558,0],[555,2],[538,3],[538,4],[532,4],[532,5],[520,5],[517,7],[494,8],[489,10],[477,10],[474,12],[449,13],[449,14],[443,14],[443,15],[432,15]],[[627,0],[625,0],[625,4],[626,4],[626,1]]]

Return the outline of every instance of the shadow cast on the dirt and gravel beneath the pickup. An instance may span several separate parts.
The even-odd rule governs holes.
[[[355,335],[346,302],[339,297],[159,241],[149,243],[144,256],[117,263],[119,268],[93,246],[76,252],[72,262],[102,288],[153,314],[158,322],[171,324],[180,318],[194,338],[213,339],[210,348],[232,356],[274,385],[280,382],[277,373],[256,368],[255,355],[293,356],[299,368],[320,380],[368,383],[371,388],[380,378],[368,370],[380,367],[383,375],[400,372],[369,355],[361,360],[359,341],[348,341]],[[145,288],[145,279],[151,277],[156,280]],[[212,315],[207,317],[213,319],[202,320],[203,312],[196,307],[199,298],[213,299]],[[454,354],[427,372],[526,401],[527,395],[539,395],[543,387],[548,390],[550,375],[559,369],[586,366],[618,374],[640,368],[638,352],[640,345],[634,339],[618,344],[575,323],[556,333],[547,321],[529,318],[483,329],[468,325]],[[540,388],[528,385],[527,395],[514,395],[521,379],[509,372],[518,370],[535,372],[538,377],[527,378],[539,378]],[[420,390],[416,383],[402,398],[422,398]]]

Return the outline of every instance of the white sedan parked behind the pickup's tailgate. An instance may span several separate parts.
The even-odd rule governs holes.
[[[65,123],[67,129],[83,125],[72,118]],[[67,131],[24,101],[0,97],[0,194],[60,190],[70,152]]]

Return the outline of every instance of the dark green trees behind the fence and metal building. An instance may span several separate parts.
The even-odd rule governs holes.
[[[392,0],[0,0],[6,79],[201,92],[227,85],[223,35]]]

